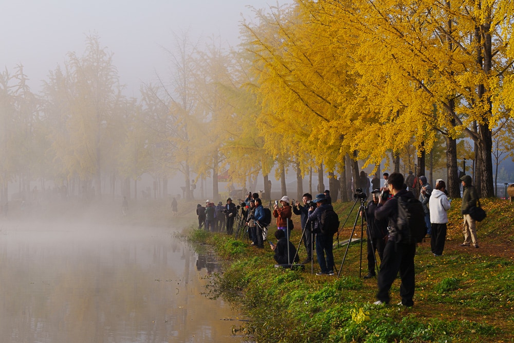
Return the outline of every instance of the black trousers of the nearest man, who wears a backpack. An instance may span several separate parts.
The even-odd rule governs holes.
[[[389,303],[391,299],[389,290],[393,284],[398,271],[400,272],[401,303],[405,306],[412,306],[414,302],[414,255],[416,255],[416,243],[403,244],[388,241],[384,248],[380,272],[378,273],[377,299]]]

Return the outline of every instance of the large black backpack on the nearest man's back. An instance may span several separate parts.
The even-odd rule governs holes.
[[[398,197],[398,219],[396,220],[398,237],[396,242],[421,243],[427,234],[425,210],[416,198]]]

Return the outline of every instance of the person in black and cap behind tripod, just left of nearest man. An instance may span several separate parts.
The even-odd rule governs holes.
[[[364,279],[374,278],[377,274],[375,266],[378,264],[376,261],[375,252],[378,252],[380,261],[383,259],[384,247],[386,247],[386,238],[388,236],[388,220],[378,220],[375,218],[375,210],[382,206],[378,203],[380,198],[380,190],[374,189],[372,192],[373,199],[370,200],[365,209],[365,219],[368,223],[368,275]],[[362,215],[362,213],[360,213]]]

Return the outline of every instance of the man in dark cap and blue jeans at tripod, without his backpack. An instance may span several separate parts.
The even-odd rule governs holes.
[[[332,205],[327,204],[326,196],[323,193],[316,195],[314,200],[316,209],[309,208],[309,221],[314,224],[313,231],[316,233],[316,256],[321,268],[321,272],[316,275],[334,275],[334,236],[332,234],[321,233],[321,214],[326,209],[333,209]],[[326,258],[325,258],[326,255]]]

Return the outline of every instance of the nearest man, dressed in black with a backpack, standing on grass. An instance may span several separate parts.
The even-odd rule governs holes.
[[[405,207],[401,209],[402,213],[400,213],[399,206],[403,206],[402,204],[406,203],[417,205],[419,213],[415,214],[416,218],[413,218],[415,221],[409,218],[408,222],[410,224],[414,222],[419,223],[416,224],[416,226],[425,225],[423,207],[416,200],[412,192],[403,188],[403,180],[403,175],[400,173],[392,173],[389,175],[388,188],[393,197],[386,202],[380,199],[382,206],[378,207],[375,211],[375,218],[377,220],[388,219],[389,236],[378,273],[378,300],[375,301],[374,304],[389,304],[391,299],[389,291],[399,271],[401,278],[401,304],[403,306],[414,305],[412,298],[414,297],[414,256],[416,254],[416,239],[413,239],[412,232],[417,228],[410,226],[405,227],[406,218],[401,218],[406,215],[403,210]],[[414,213],[412,213],[412,215],[414,216]],[[407,216],[410,217],[411,215],[408,214]],[[423,231],[423,228],[419,229]]]

